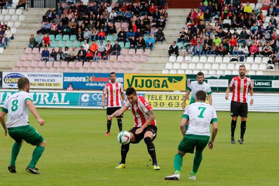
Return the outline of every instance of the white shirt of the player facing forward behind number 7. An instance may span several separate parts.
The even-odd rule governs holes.
[[[207,95],[212,94],[211,88],[206,82],[202,82],[200,84],[198,81],[193,81],[188,86],[188,90],[191,91],[190,104],[195,103],[195,97],[197,91],[203,90],[207,93]]]

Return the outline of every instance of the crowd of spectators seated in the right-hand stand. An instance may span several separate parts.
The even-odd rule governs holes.
[[[191,9],[186,18],[186,28],[182,28],[177,42],[170,46],[169,56],[242,55],[255,58],[277,53],[279,57],[278,21],[275,19],[279,16],[279,4],[263,0],[262,5],[252,10],[249,2],[243,6],[239,0],[221,0],[219,3],[203,0],[197,12]],[[265,20],[262,10],[267,10],[270,20]],[[263,23],[268,25],[264,28]],[[180,47],[179,51],[178,42],[184,42],[185,49]],[[276,59],[270,61],[274,64]]]

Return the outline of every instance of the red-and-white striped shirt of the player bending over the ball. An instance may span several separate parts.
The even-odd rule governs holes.
[[[135,120],[135,127],[141,127],[148,119],[148,115],[146,112],[151,110],[152,107],[148,103],[148,100],[145,99],[143,96],[139,96],[138,101],[135,104],[131,104],[128,100],[125,103],[126,107],[130,107],[134,120]],[[154,119],[150,125],[156,126],[156,120]]]

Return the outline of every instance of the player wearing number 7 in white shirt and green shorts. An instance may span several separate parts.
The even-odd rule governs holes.
[[[205,103],[205,91],[197,91],[195,101],[196,102],[189,105],[183,113],[180,123],[180,129],[184,138],[180,142],[177,153],[175,155],[175,173],[170,176],[166,176],[166,180],[178,180],[180,178],[180,169],[182,166],[183,156],[186,153],[194,153],[195,147],[196,153],[194,157],[193,170],[189,179],[196,179],[197,170],[202,160],[202,151],[209,141],[210,123],[212,123],[213,129],[208,148],[213,148],[214,139],[218,131],[216,111],[211,105]],[[188,120],[190,122],[188,130],[186,131],[185,124]]]

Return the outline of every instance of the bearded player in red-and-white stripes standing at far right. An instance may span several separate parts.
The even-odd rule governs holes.
[[[246,68],[244,65],[239,66],[239,76],[232,78],[227,91],[225,99],[228,100],[228,93],[232,89],[232,101],[231,101],[231,143],[235,144],[234,131],[236,128],[237,117],[241,117],[240,125],[240,139],[238,142],[243,144],[243,137],[246,130],[246,120],[248,117],[248,105],[247,105],[247,95],[248,89],[250,91],[251,100],[250,105],[254,103],[253,99],[253,83],[250,78],[245,76]]]

